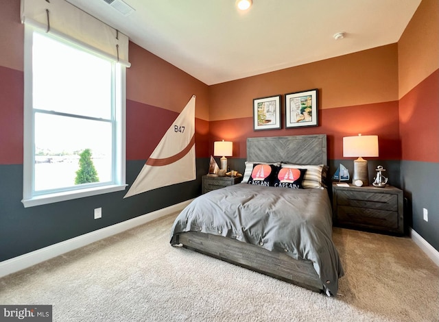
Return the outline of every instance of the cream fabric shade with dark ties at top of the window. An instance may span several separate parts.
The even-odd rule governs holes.
[[[130,66],[128,36],[65,0],[21,0],[21,22]]]

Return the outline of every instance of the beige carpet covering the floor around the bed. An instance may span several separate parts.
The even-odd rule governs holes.
[[[439,268],[410,238],[335,228],[346,275],[326,297],[169,245],[176,214],[0,279],[0,304],[54,321],[439,321]]]

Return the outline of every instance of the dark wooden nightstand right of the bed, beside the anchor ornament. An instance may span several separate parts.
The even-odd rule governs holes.
[[[404,234],[403,190],[333,183],[332,195],[334,225]]]

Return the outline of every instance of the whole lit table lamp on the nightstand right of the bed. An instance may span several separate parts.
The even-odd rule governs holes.
[[[362,157],[378,156],[378,136],[346,136],[343,138],[343,156],[357,157],[354,160],[353,184],[357,180],[363,182],[363,186],[369,185],[368,162]],[[361,186],[361,185],[360,185]]]

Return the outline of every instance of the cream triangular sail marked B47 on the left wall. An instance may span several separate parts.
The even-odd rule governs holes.
[[[151,153],[125,197],[196,179],[195,95]]]

